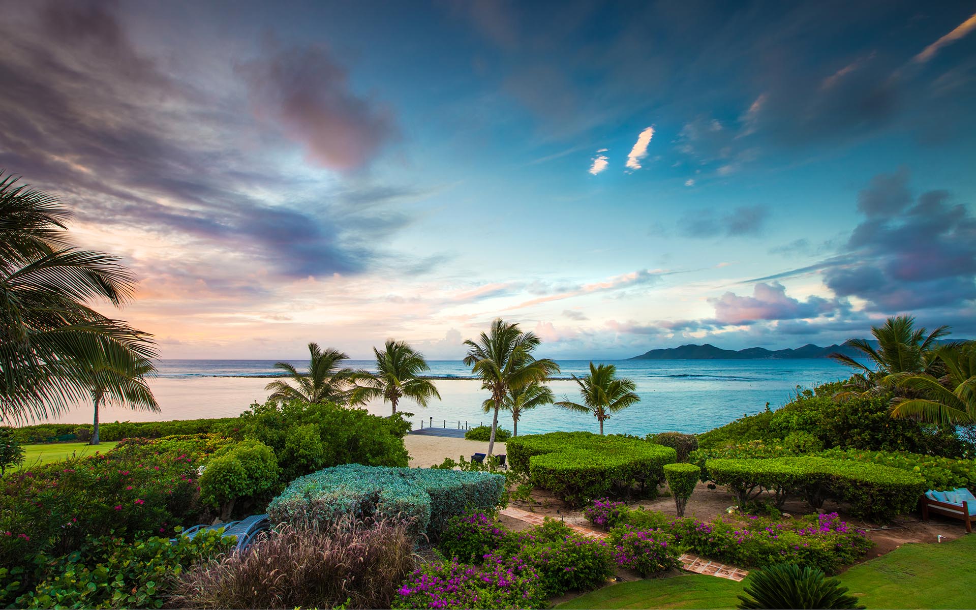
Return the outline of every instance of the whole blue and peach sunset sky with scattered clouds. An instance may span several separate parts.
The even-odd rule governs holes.
[[[165,358],[976,337],[976,2],[0,6],[0,167]]]

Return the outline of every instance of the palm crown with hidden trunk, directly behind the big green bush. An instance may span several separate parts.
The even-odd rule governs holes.
[[[268,400],[345,404],[349,399],[348,389],[355,373],[352,369],[340,368],[340,365],[349,356],[333,347],[327,347],[323,351],[315,343],[308,344],[308,353],[311,358],[308,360],[307,373],[299,373],[287,362],[274,364],[274,368],[288,374],[287,377],[295,382],[295,386],[281,380],[271,382],[264,386],[264,389],[273,390],[267,397]]]

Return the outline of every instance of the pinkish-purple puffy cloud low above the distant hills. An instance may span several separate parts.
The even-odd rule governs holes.
[[[715,320],[720,324],[751,324],[757,320],[792,320],[819,317],[844,310],[837,300],[811,296],[806,301],[788,297],[786,287],[779,282],[758,283],[752,288],[752,297],[740,297],[727,292],[717,299],[710,299],[715,307]]]

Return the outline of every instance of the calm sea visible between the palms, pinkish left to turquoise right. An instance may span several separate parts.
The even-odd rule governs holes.
[[[307,360],[292,363],[301,371]],[[232,417],[254,401],[264,401],[264,385],[273,376],[273,360],[162,360],[159,377],[150,384],[162,408],[161,413],[129,411],[107,407],[102,422],[183,420]],[[372,361],[350,361],[352,368],[371,368]],[[414,427],[431,422],[435,427],[490,424],[491,417],[481,410],[488,397],[480,384],[470,378],[470,370],[460,361],[432,361],[430,375],[441,400],[427,408],[404,400],[400,411],[414,413]],[[811,360],[619,360],[620,375],[630,377],[637,386],[640,402],[613,416],[605,424],[607,432],[646,434],[665,430],[703,432],[722,426],[765,408],[779,407],[791,399],[796,386],[810,387],[848,377],[848,369],[829,359]],[[560,361],[562,376],[583,375],[589,361]],[[467,378],[467,379],[466,379]],[[576,384],[570,380],[550,382],[557,400],[579,401]],[[380,402],[367,407],[388,415],[389,406]],[[91,422],[90,405],[79,405],[56,421]],[[511,429],[510,418],[500,415],[504,427]],[[592,416],[553,406],[529,411],[518,423],[519,433],[553,430],[591,430],[599,427]]]

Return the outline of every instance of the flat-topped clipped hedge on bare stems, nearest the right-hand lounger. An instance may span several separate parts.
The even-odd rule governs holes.
[[[850,503],[851,513],[879,520],[910,512],[925,482],[915,473],[875,464],[800,456],[767,460],[709,460],[712,480],[727,485],[740,506],[762,491],[771,491],[777,505],[787,495],[802,493],[814,507],[826,498]]]

